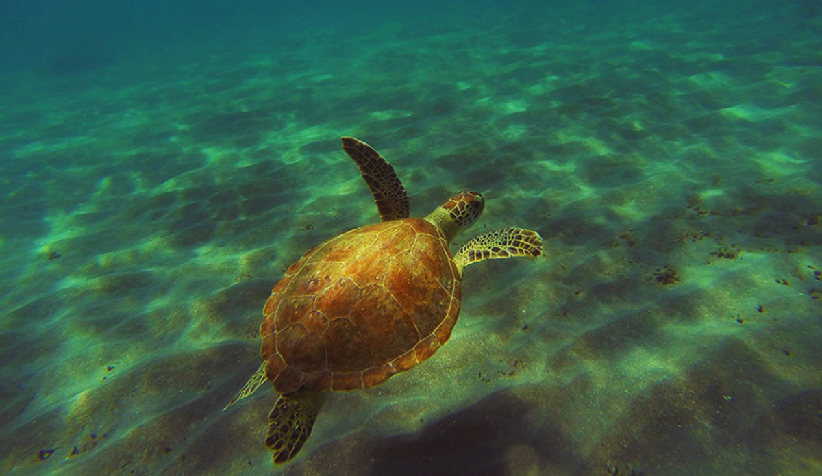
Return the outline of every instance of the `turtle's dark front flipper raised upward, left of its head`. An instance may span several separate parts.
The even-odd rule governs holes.
[[[382,221],[408,218],[409,196],[394,167],[371,146],[353,137],[343,137],[343,149],[363,174]]]

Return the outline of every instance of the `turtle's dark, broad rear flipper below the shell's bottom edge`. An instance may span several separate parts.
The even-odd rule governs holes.
[[[268,414],[266,446],[274,451],[274,462],[291,460],[311,435],[316,415],[328,399],[328,391],[298,391],[280,395]]]

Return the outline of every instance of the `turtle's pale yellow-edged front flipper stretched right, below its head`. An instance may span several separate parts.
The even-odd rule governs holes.
[[[454,255],[459,274],[465,266],[482,260],[514,256],[539,256],[543,253],[543,238],[529,229],[506,228],[471,238]]]

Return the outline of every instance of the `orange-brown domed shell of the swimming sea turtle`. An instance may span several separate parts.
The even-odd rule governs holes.
[[[294,263],[263,307],[262,358],[281,394],[375,386],[423,362],[459,315],[459,271],[426,220],[364,226]]]

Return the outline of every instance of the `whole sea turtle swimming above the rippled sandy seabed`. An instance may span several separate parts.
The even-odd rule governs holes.
[[[506,228],[452,256],[448,243],[477,220],[483,196],[459,192],[427,217],[409,218],[394,168],[365,142],[342,141],[382,221],[330,238],[286,270],[263,307],[262,364],[225,406],[266,380],[274,384],[279,400],[268,415],[266,446],[275,463],[297,455],[330,391],[375,386],[446,343],[465,266],[542,252],[538,233]]]

